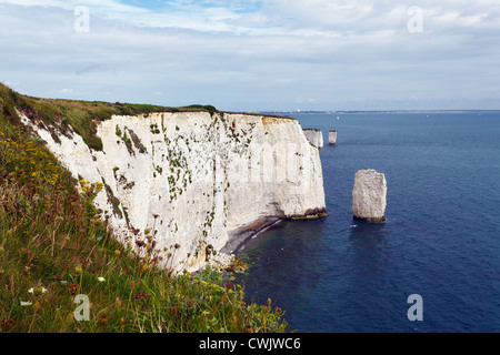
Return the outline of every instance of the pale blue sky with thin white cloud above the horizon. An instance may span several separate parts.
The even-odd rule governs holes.
[[[224,111],[500,109],[500,0],[0,0],[22,94]]]

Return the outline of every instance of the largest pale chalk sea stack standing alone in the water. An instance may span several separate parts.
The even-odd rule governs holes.
[[[386,175],[374,170],[360,170],[352,190],[354,219],[384,223],[387,205]]]

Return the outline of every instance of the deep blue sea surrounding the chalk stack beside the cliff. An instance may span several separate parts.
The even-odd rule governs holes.
[[[339,116],[294,115],[323,131],[329,215],[246,245],[248,301],[270,297],[304,333],[500,332],[500,114]],[[352,219],[361,169],[386,174],[384,225]]]

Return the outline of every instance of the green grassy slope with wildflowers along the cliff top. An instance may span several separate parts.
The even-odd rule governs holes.
[[[94,119],[179,110],[37,99],[0,84],[0,333],[287,329],[281,310],[270,301],[244,303],[241,287],[222,282],[220,273],[157,270],[150,231],[136,231],[143,245],[117,243],[92,204],[102,185],[74,181],[20,124],[16,108],[71,124],[94,149]],[[74,317],[76,311],[84,315],[74,303],[78,294],[89,297],[89,321]]]

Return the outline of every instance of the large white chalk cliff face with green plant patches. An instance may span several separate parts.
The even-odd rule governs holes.
[[[96,204],[109,211],[122,242],[133,242],[132,229],[154,229],[158,250],[178,244],[178,271],[200,268],[231,231],[259,219],[326,213],[318,149],[293,119],[114,115],[98,123],[103,149],[94,151],[74,132],[56,141],[43,124],[21,116],[74,178],[104,184]]]

